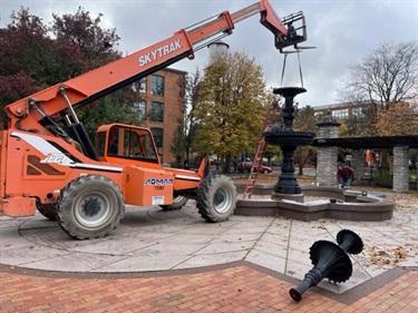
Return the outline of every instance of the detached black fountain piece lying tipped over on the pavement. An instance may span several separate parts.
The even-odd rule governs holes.
[[[359,254],[363,250],[363,243],[359,235],[349,229],[342,229],[337,234],[337,243],[338,245],[329,241],[313,243],[310,248],[313,268],[304,275],[298,287],[289,291],[294,301],[301,301],[302,294],[323,278],[334,283],[350,278],[352,264],[348,253]]]

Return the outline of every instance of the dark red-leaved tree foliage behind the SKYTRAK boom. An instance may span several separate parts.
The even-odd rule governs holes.
[[[46,25],[29,9],[21,8],[0,29],[1,107],[120,57],[114,49],[119,37],[115,29],[100,27],[101,14],[93,19],[78,8],[75,14],[52,17],[52,22]],[[130,88],[125,88],[78,114],[93,134],[104,123],[136,120],[133,99]],[[4,115],[2,119],[6,120]]]

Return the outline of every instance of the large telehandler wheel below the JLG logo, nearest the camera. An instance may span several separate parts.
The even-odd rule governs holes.
[[[124,214],[120,188],[107,177],[80,176],[60,192],[58,223],[74,238],[103,238],[119,225]]]

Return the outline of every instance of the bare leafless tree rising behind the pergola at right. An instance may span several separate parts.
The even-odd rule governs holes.
[[[352,117],[358,126],[349,127],[350,135],[376,135],[381,111],[418,95],[417,41],[381,43],[348,68],[350,76],[338,90],[339,100],[363,108]]]

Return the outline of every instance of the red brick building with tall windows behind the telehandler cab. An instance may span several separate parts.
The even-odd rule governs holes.
[[[171,146],[178,119],[183,118],[178,81],[186,75],[185,71],[167,68],[133,85],[134,91],[140,94],[134,107],[144,119],[144,126],[152,130],[165,164],[175,160]]]

